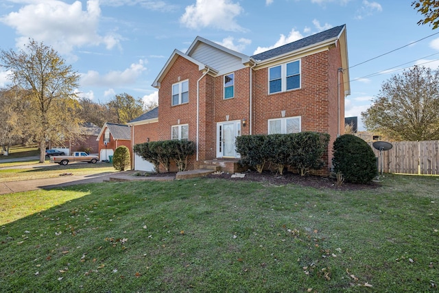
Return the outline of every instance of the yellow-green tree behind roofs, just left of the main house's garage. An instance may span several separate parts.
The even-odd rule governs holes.
[[[116,95],[107,105],[115,111],[119,124],[126,124],[143,114],[143,100],[134,99],[128,93]]]

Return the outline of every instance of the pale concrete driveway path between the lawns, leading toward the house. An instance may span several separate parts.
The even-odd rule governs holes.
[[[117,173],[102,173],[93,175],[66,175],[56,178],[44,178],[25,181],[10,181],[0,183],[0,195],[15,192],[31,191],[37,189],[51,189],[62,186],[78,185],[84,183],[103,183],[109,181],[134,181],[134,180],[174,180],[175,176],[134,176],[136,171]]]

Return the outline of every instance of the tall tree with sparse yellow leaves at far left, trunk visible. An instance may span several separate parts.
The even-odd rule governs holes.
[[[75,99],[80,75],[53,48],[35,40],[19,52],[1,50],[0,60],[11,72],[14,89],[27,93],[29,111],[23,113],[27,123],[21,127],[38,143],[44,163],[48,141],[72,139],[80,132]]]

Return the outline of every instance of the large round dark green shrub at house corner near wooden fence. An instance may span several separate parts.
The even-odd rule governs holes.
[[[333,154],[334,171],[341,172],[346,182],[369,183],[377,176],[377,159],[363,139],[352,134],[337,137]]]

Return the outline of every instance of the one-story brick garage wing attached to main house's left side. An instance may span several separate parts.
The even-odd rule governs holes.
[[[128,122],[131,126],[132,146],[138,143],[158,141],[158,107]],[[133,169],[139,171],[154,172],[154,165],[145,161],[141,156],[134,154],[132,157]]]

